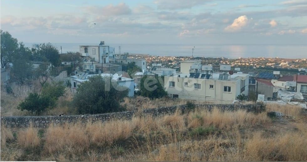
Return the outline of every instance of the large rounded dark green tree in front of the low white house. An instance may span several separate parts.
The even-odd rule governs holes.
[[[91,77],[78,85],[73,103],[80,114],[96,114],[125,110],[120,102],[127,96],[128,89],[111,83],[111,78]]]

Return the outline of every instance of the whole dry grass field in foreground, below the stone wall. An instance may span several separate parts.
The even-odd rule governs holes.
[[[268,105],[268,117],[204,109],[163,117],[37,129],[1,126],[1,160],[306,161],[306,111]]]

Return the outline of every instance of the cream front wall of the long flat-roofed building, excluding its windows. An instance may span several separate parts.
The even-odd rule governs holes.
[[[169,87],[169,82],[171,81],[175,82],[175,87]],[[188,86],[184,86],[184,83],[188,83]],[[194,83],[200,84],[200,89],[194,89]],[[164,77],[164,88],[170,97],[172,97],[172,94],[176,94],[178,98],[203,100],[220,104],[230,104],[236,100],[237,96],[241,93],[240,83],[241,80],[239,79],[236,81],[225,81],[172,76]],[[213,85],[214,88],[210,88],[210,85]],[[231,92],[224,92],[224,86],[231,87]],[[248,88],[246,89],[247,94]]]

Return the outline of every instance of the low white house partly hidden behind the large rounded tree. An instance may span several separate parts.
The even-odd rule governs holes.
[[[87,81],[90,77],[92,76],[99,76],[101,77],[112,77],[112,81],[116,82],[118,85],[127,87],[129,92],[128,92],[128,97],[133,97],[134,96],[134,79],[122,77],[121,75],[118,74],[88,74],[88,73],[80,73],[74,76],[70,76],[71,79],[71,89],[72,92],[77,92],[78,91],[78,85],[80,85],[82,82]]]

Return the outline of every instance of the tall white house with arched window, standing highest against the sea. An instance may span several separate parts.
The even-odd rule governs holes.
[[[99,63],[101,63],[101,60],[103,60],[103,63],[109,63],[110,57],[114,58],[115,48],[105,45],[104,41],[100,41],[99,45],[80,45],[80,53],[82,56],[90,56]]]

